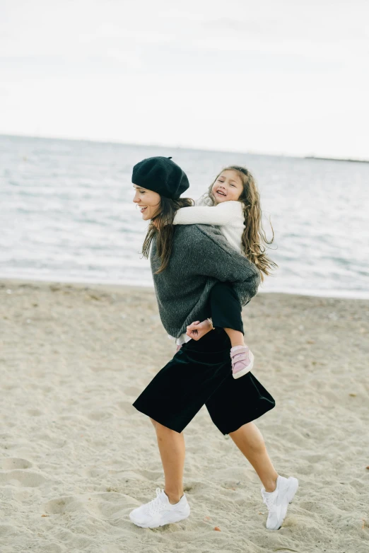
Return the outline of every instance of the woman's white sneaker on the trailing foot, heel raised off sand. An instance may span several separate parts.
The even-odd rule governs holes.
[[[263,501],[269,511],[266,528],[269,530],[279,530],[281,528],[287,513],[288,503],[293,500],[297,489],[298,479],[292,476],[289,478],[279,476],[274,491],[265,491],[265,488],[262,487]]]

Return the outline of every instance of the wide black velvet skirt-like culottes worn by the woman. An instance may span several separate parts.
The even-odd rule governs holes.
[[[251,372],[233,378],[230,339],[223,328],[184,344],[133,405],[163,426],[182,432],[204,404],[223,434],[238,430],[275,405]]]

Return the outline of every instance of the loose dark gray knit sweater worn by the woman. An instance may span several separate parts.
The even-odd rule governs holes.
[[[250,301],[259,286],[255,265],[214,226],[176,226],[168,267],[159,274],[154,274],[160,267],[154,238],[150,261],[160,319],[174,337],[186,332],[194,320],[211,316],[207,303],[217,281],[230,281],[241,305]]]

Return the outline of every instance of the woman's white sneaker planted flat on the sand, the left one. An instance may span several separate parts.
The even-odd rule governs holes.
[[[189,503],[185,494],[180,501],[172,505],[164,490],[156,488],[156,498],[149,503],[144,503],[131,513],[129,518],[141,528],[158,528],[165,524],[177,523],[189,516]]]

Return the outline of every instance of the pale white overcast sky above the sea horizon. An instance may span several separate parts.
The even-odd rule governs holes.
[[[368,0],[0,7],[0,134],[369,159]]]

